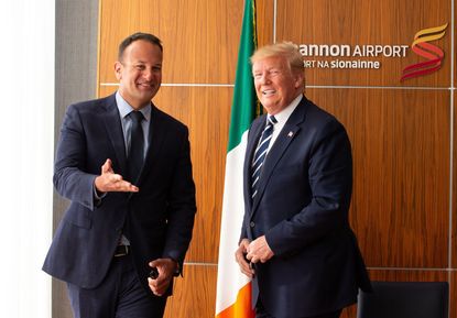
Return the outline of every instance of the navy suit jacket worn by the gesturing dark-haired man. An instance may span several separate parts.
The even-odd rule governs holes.
[[[150,290],[148,263],[171,257],[182,268],[192,238],[196,204],[187,128],[152,106],[149,149],[134,183],[140,191],[108,193],[97,201],[94,182],[107,158],[112,161],[115,173],[127,174],[115,95],[69,106],[53,179],[57,193],[70,205],[43,270],[79,287],[94,288],[106,276],[126,229],[139,279]]]

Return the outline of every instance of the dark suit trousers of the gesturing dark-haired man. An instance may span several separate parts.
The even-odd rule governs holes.
[[[93,289],[68,284],[75,318],[162,318],[166,297],[141,286],[131,255],[115,257],[104,282]]]

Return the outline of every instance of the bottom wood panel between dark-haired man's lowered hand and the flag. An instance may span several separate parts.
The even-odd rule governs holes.
[[[216,310],[217,266],[184,265],[175,279],[164,318],[213,318]]]

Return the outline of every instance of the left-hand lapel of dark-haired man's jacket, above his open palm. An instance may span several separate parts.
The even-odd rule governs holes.
[[[118,167],[113,166],[113,169],[116,173],[123,175],[123,173],[127,171],[126,143],[115,95],[108,97],[104,108],[107,112],[104,117],[105,127],[116,153],[116,158],[112,158],[112,161],[113,163],[117,162],[119,164]]]

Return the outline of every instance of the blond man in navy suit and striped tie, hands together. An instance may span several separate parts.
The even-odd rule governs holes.
[[[251,125],[244,158],[244,219],[236,252],[253,278],[257,317],[337,318],[370,289],[349,227],[351,149],[345,128],[306,99],[297,47],[251,57],[268,114]]]

